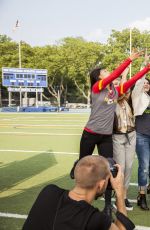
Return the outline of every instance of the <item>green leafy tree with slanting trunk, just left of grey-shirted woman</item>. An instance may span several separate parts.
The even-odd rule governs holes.
[[[90,104],[89,72],[102,59],[103,45],[86,42],[82,38],[62,40],[64,72],[72,80],[78,92]]]

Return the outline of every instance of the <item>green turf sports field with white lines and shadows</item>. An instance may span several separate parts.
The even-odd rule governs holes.
[[[69,171],[78,157],[87,119],[88,114],[0,113],[0,230],[21,229],[24,219],[20,217],[28,214],[45,185],[73,186]],[[129,199],[134,210],[129,216],[136,225],[150,227],[150,212],[140,210],[135,203],[136,159],[131,183]],[[102,208],[104,201],[99,199],[94,205]],[[3,217],[6,213],[10,217]]]

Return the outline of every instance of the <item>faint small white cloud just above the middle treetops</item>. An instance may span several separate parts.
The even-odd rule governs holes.
[[[106,33],[106,31],[104,31],[101,28],[97,28],[85,35],[83,35],[83,37],[87,40],[87,41],[93,41],[93,42],[106,42],[107,38],[108,38],[108,31]]]

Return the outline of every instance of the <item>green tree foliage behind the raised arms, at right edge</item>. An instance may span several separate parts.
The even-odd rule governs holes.
[[[132,49],[145,51],[150,49],[150,34],[140,32],[138,29],[132,30]],[[112,30],[107,42],[106,55],[104,57],[104,65],[110,70],[116,68],[126,57],[130,55],[130,30],[122,31]],[[144,55],[143,55],[144,56]],[[132,64],[132,74],[139,71],[143,57],[137,59]]]

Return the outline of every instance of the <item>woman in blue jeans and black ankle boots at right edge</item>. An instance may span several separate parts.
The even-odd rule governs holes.
[[[146,61],[149,57],[146,57]],[[149,210],[146,201],[146,190],[150,173],[150,79],[143,77],[137,81],[132,92],[132,103],[136,127],[136,153],[138,157],[137,204],[143,210]]]

